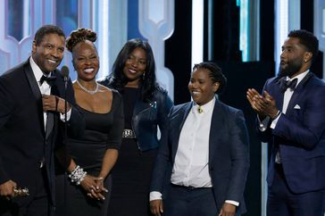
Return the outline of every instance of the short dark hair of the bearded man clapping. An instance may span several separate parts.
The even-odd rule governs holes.
[[[312,59],[315,59],[318,54],[318,39],[312,32],[304,29],[292,30],[287,34],[287,37],[296,37],[299,39],[300,44],[302,44],[308,52],[312,53]]]

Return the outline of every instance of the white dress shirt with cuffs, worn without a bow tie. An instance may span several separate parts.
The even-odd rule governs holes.
[[[179,146],[171,171],[171,183],[185,187],[212,187],[209,173],[209,137],[215,98],[201,106],[193,102],[179,135]],[[162,199],[157,191],[150,192],[150,201]],[[228,204],[239,205],[232,200]]]

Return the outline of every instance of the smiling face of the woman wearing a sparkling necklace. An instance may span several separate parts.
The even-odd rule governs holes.
[[[83,80],[96,79],[99,70],[99,58],[94,44],[88,40],[80,42],[72,50],[73,67],[78,78]]]

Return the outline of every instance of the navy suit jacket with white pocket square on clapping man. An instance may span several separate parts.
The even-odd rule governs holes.
[[[279,89],[279,78],[268,79],[264,90],[281,110],[284,94]],[[257,131],[263,142],[272,145],[269,186],[279,149],[287,184],[293,192],[325,189],[325,85],[321,79],[309,72],[296,87],[287,112],[281,114],[275,129]]]

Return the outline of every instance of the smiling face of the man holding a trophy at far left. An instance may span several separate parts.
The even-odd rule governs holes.
[[[38,45],[33,42],[32,57],[40,70],[49,73],[59,66],[63,60],[64,40],[63,36],[51,33],[45,35]]]

